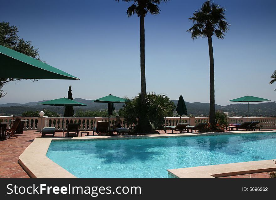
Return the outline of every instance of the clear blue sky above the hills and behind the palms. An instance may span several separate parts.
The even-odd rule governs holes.
[[[171,0],[157,16],[145,18],[146,89],[172,100],[209,102],[207,39],[192,40],[188,20],[204,1]],[[226,38],[213,37],[215,103],[252,95],[275,101],[274,0],[216,0],[231,24]],[[19,35],[39,48],[47,64],[79,81],[9,83],[3,103],[27,103],[67,96],[97,99],[111,93],[134,97],[141,91],[139,18],[127,17],[130,3],[114,0],[1,0],[0,20],[19,27]]]

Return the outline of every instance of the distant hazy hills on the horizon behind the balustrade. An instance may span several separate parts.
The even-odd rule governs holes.
[[[82,99],[82,98],[75,98],[77,102],[84,103],[88,106],[74,106],[75,112],[79,109],[82,110],[106,110],[107,103],[93,103],[92,100],[89,99]],[[44,102],[48,100],[43,100],[39,102],[29,102],[29,103],[6,103],[0,104],[0,114],[2,115],[21,115],[25,111],[29,110],[41,110],[46,109],[50,111],[55,111],[59,114],[63,114],[63,108],[61,106],[54,107],[54,106],[45,106],[39,105],[37,103]],[[175,105],[177,105],[178,100],[173,100]],[[209,116],[209,103],[200,103],[194,102],[189,103],[185,102],[188,110],[188,115],[190,116]],[[122,108],[124,103],[114,103],[115,109],[119,110]],[[220,106],[215,105],[216,110],[221,110],[223,112],[227,111],[229,116],[248,116],[248,108],[247,103],[238,103],[238,104],[231,104],[227,106]],[[269,103],[258,103],[258,104],[250,104],[250,116],[276,116],[276,103],[269,102]],[[175,112],[176,113],[176,112]]]

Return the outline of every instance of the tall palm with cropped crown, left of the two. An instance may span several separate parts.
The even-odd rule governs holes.
[[[119,2],[119,0],[116,0]],[[127,9],[127,16],[131,17],[137,14],[140,17],[140,68],[141,68],[141,103],[146,99],[146,73],[145,73],[145,17],[149,12],[153,15],[159,14],[157,4],[167,2],[169,0],[122,0],[126,3],[133,4]]]

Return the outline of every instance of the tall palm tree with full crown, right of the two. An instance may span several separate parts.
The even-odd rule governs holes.
[[[212,35],[218,39],[224,39],[230,24],[225,21],[225,8],[206,1],[199,10],[196,10],[193,17],[189,19],[193,21],[194,26],[187,30],[192,34],[192,39],[208,38],[209,58],[210,58],[210,123],[215,128],[215,71],[214,71],[214,54],[212,45]]]

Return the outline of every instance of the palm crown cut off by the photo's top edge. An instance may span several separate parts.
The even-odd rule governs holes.
[[[119,0],[116,0],[119,2]],[[127,16],[130,17],[131,15],[134,15],[135,13],[138,15],[138,17],[143,13],[143,16],[145,17],[146,14],[149,12],[153,15],[159,14],[159,7],[157,4],[160,4],[162,2],[167,2],[169,0],[122,0],[125,2],[131,2],[133,1],[133,4],[127,9]]]

